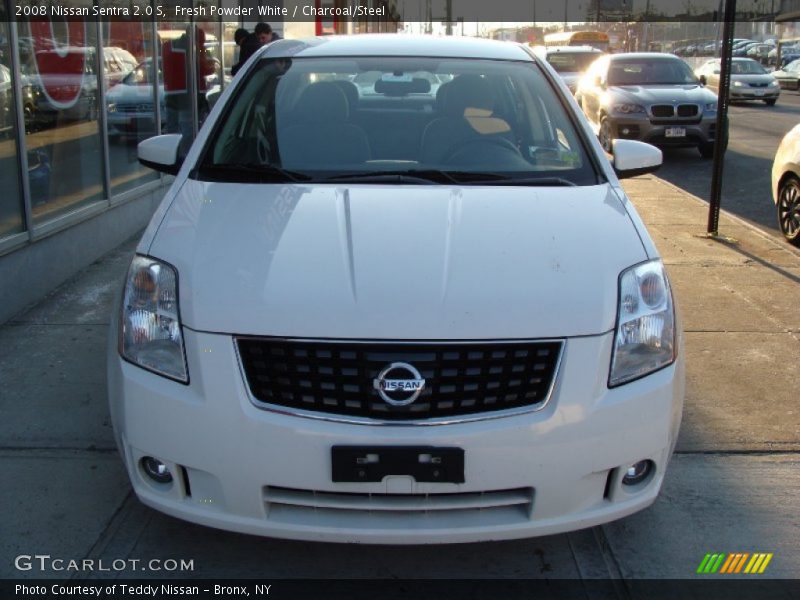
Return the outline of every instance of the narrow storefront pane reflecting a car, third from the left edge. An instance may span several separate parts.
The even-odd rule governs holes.
[[[142,2],[142,8],[145,4]],[[105,73],[106,119],[114,195],[158,179],[152,169],[139,164],[136,155],[136,145],[158,131],[154,46],[152,28],[146,19],[104,23],[103,39],[103,54],[110,67]],[[160,74],[158,77],[161,86]],[[161,118],[163,123],[163,107]]]

